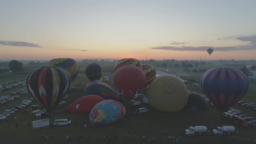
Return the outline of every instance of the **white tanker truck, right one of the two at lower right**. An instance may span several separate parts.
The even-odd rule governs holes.
[[[239,132],[235,130],[234,126],[217,127],[217,129],[212,130],[212,133],[215,135],[232,135],[232,136],[239,134]]]

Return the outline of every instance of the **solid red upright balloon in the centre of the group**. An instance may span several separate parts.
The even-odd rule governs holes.
[[[127,98],[133,98],[146,82],[145,73],[135,66],[123,66],[116,70],[113,81],[117,89]]]

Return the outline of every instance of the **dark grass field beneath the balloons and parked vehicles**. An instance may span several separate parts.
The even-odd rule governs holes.
[[[102,65],[103,72],[113,72],[114,64]],[[31,70],[35,67],[27,67],[24,72],[14,73],[14,76],[0,78],[0,81],[12,81],[19,78],[24,78]],[[86,78],[84,73],[85,67],[80,68],[80,74],[77,76],[76,80],[73,82],[71,87],[76,87],[77,91],[75,93],[79,94],[76,99],[83,96],[85,83],[89,80]],[[175,70],[172,70],[176,72]],[[164,72],[164,70],[163,70]],[[107,74],[103,74],[104,77]],[[191,73],[191,76],[183,76],[183,79],[193,78],[197,81],[200,80],[201,74]],[[107,84],[110,85],[110,82]],[[189,89],[203,94],[200,88],[191,87],[193,82],[188,82]],[[15,87],[15,89],[19,89]],[[5,91],[5,94],[10,94],[12,90]],[[75,96],[75,93],[70,92],[69,97]],[[256,83],[250,82],[249,91],[244,96],[242,100],[250,103],[256,103]],[[3,95],[1,93],[1,95]],[[13,96],[13,95],[10,95]],[[28,99],[29,95],[21,95],[20,101],[22,99]],[[140,100],[140,99],[138,99]],[[161,112],[152,108],[149,104],[142,104],[142,107],[148,108],[149,111],[145,114],[137,114],[134,118],[128,118],[131,115],[131,108],[127,105],[127,100],[123,97],[122,104],[126,108],[125,119],[122,119],[116,123],[111,123],[103,126],[90,126],[89,125],[89,114],[74,114],[65,113],[64,108],[68,107],[74,100],[67,100],[67,104],[64,107],[56,108],[53,110],[52,115],[49,117],[50,127],[44,128],[42,130],[33,130],[32,121],[35,120],[34,117],[30,116],[30,112],[22,113],[19,111],[16,113],[17,120],[14,120],[12,116],[12,121],[2,121],[0,122],[0,144],[111,144],[108,140],[104,140],[104,135],[108,135],[108,138],[113,138],[117,135],[117,139],[113,140],[112,144],[123,144],[123,140],[126,137],[125,144],[171,144],[171,141],[167,139],[167,134],[175,136],[175,139],[181,135],[182,140],[180,144],[255,144],[256,143],[256,129],[251,127],[241,127],[235,126],[240,135],[237,136],[206,136],[206,137],[188,137],[184,134],[184,130],[188,126],[195,125],[206,125],[208,128],[214,128],[219,125],[235,125],[233,121],[220,119],[219,111],[211,106],[206,111],[190,111],[188,112],[185,108],[179,112]],[[8,103],[8,108],[20,103],[18,99]],[[37,102],[33,102],[33,105]],[[32,105],[30,105],[31,108]],[[238,105],[234,105],[233,108],[238,108]],[[0,106],[0,112],[6,109],[6,105]],[[61,112],[57,112],[57,110]],[[248,108],[241,108],[242,113],[247,114],[256,118],[256,112]],[[53,126],[54,116],[57,119],[69,119],[72,120],[72,125],[70,126]],[[22,119],[19,117],[22,116]],[[75,124],[75,120],[78,124]],[[15,123],[20,123],[21,126],[16,128]],[[5,123],[9,124],[9,129],[5,127]],[[30,123],[30,127],[28,127]],[[80,124],[86,124],[86,129],[81,128]],[[165,133],[166,132],[166,133]],[[64,139],[61,139],[61,134],[64,135]],[[89,135],[89,139],[78,138],[79,134]],[[43,136],[54,136],[54,140],[42,140]],[[73,135],[73,141],[66,141],[66,135]],[[96,137],[99,136],[97,141]],[[147,139],[155,139],[154,143],[147,142],[142,139],[145,135]],[[159,135],[159,140],[157,139]],[[161,140],[160,140],[161,138]]]

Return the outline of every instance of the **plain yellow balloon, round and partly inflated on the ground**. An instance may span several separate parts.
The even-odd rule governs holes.
[[[176,112],[186,106],[188,92],[181,80],[163,75],[155,78],[149,85],[147,98],[149,104],[159,111]]]

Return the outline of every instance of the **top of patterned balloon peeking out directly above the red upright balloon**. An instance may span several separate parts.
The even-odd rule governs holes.
[[[141,69],[140,61],[133,58],[118,60],[115,65],[115,71],[123,66],[135,66]]]

